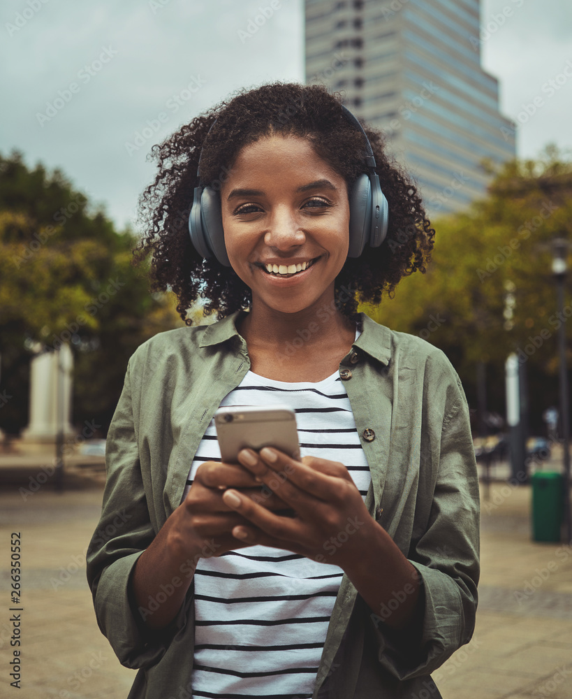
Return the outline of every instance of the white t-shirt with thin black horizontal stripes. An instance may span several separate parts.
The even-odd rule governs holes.
[[[316,383],[291,383],[249,372],[221,407],[273,403],[295,410],[302,456],[344,463],[365,499],[371,475],[339,373]],[[213,420],[184,496],[198,466],[220,460]],[[326,558],[331,550],[332,544]],[[342,575],[337,565],[264,546],[200,559],[194,578],[193,699],[310,699]]]

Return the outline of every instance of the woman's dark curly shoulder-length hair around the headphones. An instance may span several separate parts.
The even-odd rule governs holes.
[[[365,141],[343,115],[341,103],[341,96],[323,85],[274,82],[242,89],[230,101],[195,117],[161,145],[154,145],[150,157],[159,172],[140,196],[143,237],[133,250],[133,264],[152,253],[152,291],[172,290],[178,300],[177,312],[187,325],[192,324],[187,311],[198,298],[204,299],[203,314],[216,311],[219,319],[250,308],[252,301],[251,290],[233,268],[214,257],[203,259],[191,245],[188,219],[193,189],[198,185],[199,158],[203,184],[220,189],[244,146],[270,135],[301,136],[344,178],[350,190],[358,175],[367,173]],[[335,299],[339,310],[349,317],[355,317],[358,302],[379,303],[384,291],[393,296],[404,276],[424,273],[434,242],[434,229],[417,189],[386,154],[383,134],[369,127],[365,133],[388,200],[389,225],[380,247],[366,246],[360,257],[348,257],[337,275]],[[340,293],[340,289],[346,291]],[[347,289],[354,293],[348,294]]]

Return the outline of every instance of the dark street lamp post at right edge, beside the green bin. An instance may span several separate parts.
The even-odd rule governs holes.
[[[570,452],[569,452],[569,410],[568,410],[568,372],[566,368],[566,326],[564,324],[564,280],[568,267],[568,240],[555,238],[552,241],[552,274],[555,276],[558,292],[558,347],[560,355],[560,426],[562,431],[562,449],[564,450],[564,521],[566,522],[566,542],[572,541],[572,521],[570,507]]]

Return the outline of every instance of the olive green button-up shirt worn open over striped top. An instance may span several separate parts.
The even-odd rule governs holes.
[[[102,632],[119,661],[140,668],[130,698],[192,697],[193,584],[168,628],[150,631],[129,583],[138,556],[181,503],[215,410],[249,370],[239,313],[141,345],[110,426],[87,576]],[[419,628],[395,633],[344,575],[314,698],[434,699],[441,695],[430,672],[474,630],[479,507],[469,411],[443,352],[361,319],[362,333],[339,368],[372,474],[365,504],[418,571],[424,616]],[[393,604],[405,593],[395,591]]]

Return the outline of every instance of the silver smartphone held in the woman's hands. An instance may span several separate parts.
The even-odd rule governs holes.
[[[263,447],[276,447],[300,461],[300,445],[296,417],[287,405],[235,405],[219,408],[214,413],[214,426],[227,463],[238,462],[240,449],[258,452]]]

